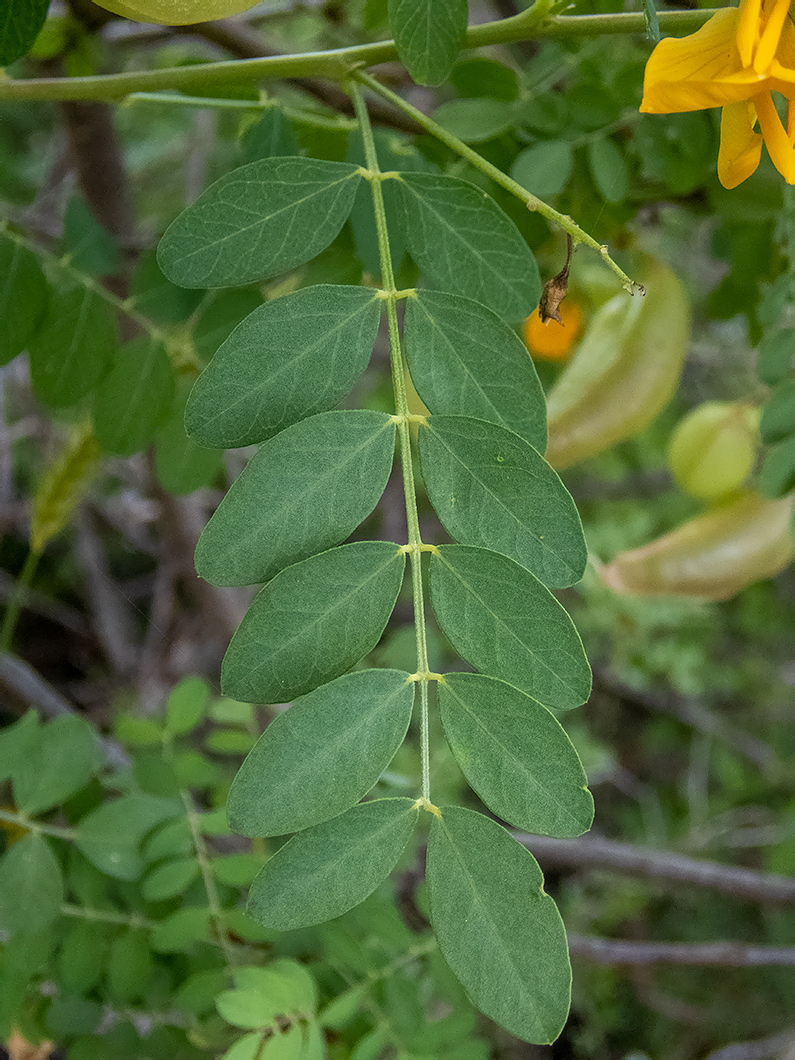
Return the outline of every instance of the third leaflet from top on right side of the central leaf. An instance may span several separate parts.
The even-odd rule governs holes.
[[[580,515],[536,449],[505,427],[462,416],[431,416],[419,441],[428,497],[453,537],[501,552],[552,588],[582,578]]]

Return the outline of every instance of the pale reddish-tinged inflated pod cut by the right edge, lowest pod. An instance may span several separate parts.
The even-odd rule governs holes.
[[[599,573],[624,596],[728,600],[792,560],[793,497],[747,491],[642,548],[621,552]]]

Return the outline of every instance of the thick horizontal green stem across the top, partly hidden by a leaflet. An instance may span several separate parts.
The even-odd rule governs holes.
[[[546,4],[544,4],[546,10]],[[716,11],[659,12],[664,33],[693,33]],[[542,37],[594,36],[605,33],[646,33],[642,12],[621,12],[610,15],[561,15],[540,20],[533,5],[513,18],[496,19],[473,25],[466,32],[465,48],[483,45],[506,45]],[[195,66],[166,67],[162,70],[131,70],[123,73],[90,77],[35,77],[15,81],[0,76],[0,100],[122,100],[130,92],[166,90],[202,92],[213,85],[253,84],[280,77],[328,77],[346,81],[358,64],[372,66],[398,57],[392,40],[372,45],[354,45],[324,52],[299,55],[273,55],[257,59],[228,59],[220,63],[199,63]]]

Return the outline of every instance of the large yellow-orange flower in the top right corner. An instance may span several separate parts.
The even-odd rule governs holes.
[[[642,111],[723,107],[718,176],[724,188],[755,172],[762,141],[784,180],[795,184],[795,26],[789,12],[790,0],[741,0],[689,37],[661,40],[647,64]],[[789,101],[787,128],[773,92]]]

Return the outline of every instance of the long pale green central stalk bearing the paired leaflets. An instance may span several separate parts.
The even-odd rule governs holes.
[[[382,283],[384,300],[387,303],[387,322],[389,324],[389,357],[392,366],[392,389],[398,421],[398,436],[401,440],[401,465],[403,469],[403,492],[406,498],[406,524],[408,527],[408,552],[411,565],[411,590],[414,602],[414,629],[417,632],[417,671],[420,686],[420,725],[422,753],[422,796],[430,798],[430,737],[428,720],[428,649],[425,639],[425,595],[422,584],[422,536],[420,534],[420,515],[417,510],[417,493],[414,490],[414,472],[411,462],[411,435],[409,432],[409,409],[406,396],[406,373],[401,350],[401,334],[398,325],[398,289],[394,283],[392,255],[389,249],[389,233],[387,232],[387,215],[384,209],[384,191],[381,187],[382,173],[378,169],[378,157],[375,151],[373,130],[367,112],[365,100],[358,85],[352,83],[349,91],[353,100],[356,118],[361,129],[365,143],[365,160],[368,167],[368,178],[373,193],[375,210],[375,228],[378,233],[378,252],[381,255]]]

